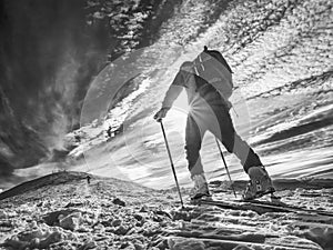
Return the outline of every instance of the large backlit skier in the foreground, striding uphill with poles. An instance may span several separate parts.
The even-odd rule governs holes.
[[[206,47],[204,51],[209,52]],[[220,53],[219,51],[215,52]],[[218,60],[215,61],[218,62]],[[225,62],[225,60],[223,62]],[[224,67],[223,72],[225,76],[223,79],[224,81],[231,81],[232,71],[228,63],[223,62],[221,63],[222,67]],[[223,82],[220,83],[223,84]],[[179,72],[167,91],[162,108],[153,118],[160,122],[167,116],[183,89],[186,90],[189,103],[185,128],[185,154],[191,179],[194,182],[194,193],[191,199],[195,200],[210,197],[200,158],[202,139],[206,131],[212,132],[229,152],[234,153],[240,159],[244,171],[249,174],[250,181],[243,194],[244,200],[252,200],[263,194],[274,192],[272,180],[259,156],[235,132],[229,113],[231,103],[228,99],[223,98],[221,91],[219,92],[211,83],[198,76],[194,61],[185,61],[181,64]]]

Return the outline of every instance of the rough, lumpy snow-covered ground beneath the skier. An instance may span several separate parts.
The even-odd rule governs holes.
[[[90,177],[88,183],[87,173],[58,172],[1,193],[0,249],[333,249],[333,217],[213,206],[180,209],[174,189]],[[239,196],[244,184],[235,182]],[[330,180],[275,184],[289,204],[333,212]],[[233,199],[226,182],[210,187],[215,199]],[[182,189],[184,198],[189,192]]]

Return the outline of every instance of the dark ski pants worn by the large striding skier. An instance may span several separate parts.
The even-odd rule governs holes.
[[[185,129],[185,153],[191,177],[203,172],[200,149],[206,131],[212,132],[230,153],[241,160],[246,173],[251,167],[262,166],[259,156],[235,132],[229,108],[220,94],[209,91],[201,96],[189,112]]]

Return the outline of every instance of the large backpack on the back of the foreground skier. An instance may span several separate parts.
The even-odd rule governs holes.
[[[194,72],[212,84],[228,100],[233,91],[232,70],[218,50],[203,51],[193,61]]]

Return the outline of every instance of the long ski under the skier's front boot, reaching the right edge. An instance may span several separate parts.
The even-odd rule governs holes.
[[[210,204],[216,206],[224,209],[233,209],[233,210],[252,210],[258,212],[259,214],[263,214],[266,212],[305,212],[305,213],[315,213],[320,216],[333,217],[333,212],[306,209],[296,206],[286,204],[284,202],[279,201],[279,203],[273,203],[270,201],[260,201],[260,200],[235,200],[235,201],[222,201],[222,200],[213,200],[213,199],[201,199],[192,202],[193,204]]]

